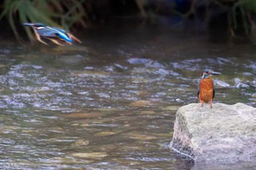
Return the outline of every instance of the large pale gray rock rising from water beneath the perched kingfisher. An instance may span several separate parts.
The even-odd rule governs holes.
[[[170,147],[196,163],[256,161],[256,108],[241,103],[181,107]]]

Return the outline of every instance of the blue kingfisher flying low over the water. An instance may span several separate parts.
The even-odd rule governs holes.
[[[80,42],[78,38],[60,28],[45,26],[42,23],[23,23],[23,25],[33,28],[37,40],[45,45],[48,44],[46,42],[43,42],[40,36],[46,39],[50,39],[50,41],[52,41],[56,45],[61,46],[63,46],[63,44],[61,44],[60,42],[67,42],[69,45],[72,45],[72,39]]]

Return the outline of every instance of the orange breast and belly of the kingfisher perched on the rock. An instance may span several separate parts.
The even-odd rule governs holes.
[[[204,101],[208,103],[214,97],[214,82],[211,78],[206,78],[201,80],[199,84],[199,99],[200,101]]]

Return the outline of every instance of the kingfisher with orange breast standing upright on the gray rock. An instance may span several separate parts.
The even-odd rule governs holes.
[[[214,81],[211,79],[213,75],[220,75],[219,72],[214,72],[211,69],[205,69],[202,74],[202,78],[197,85],[197,97],[199,98],[201,107],[203,102],[208,103],[210,101],[212,109],[212,99],[214,99]]]

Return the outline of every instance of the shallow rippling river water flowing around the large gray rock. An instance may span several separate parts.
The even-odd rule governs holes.
[[[1,169],[256,169],[197,166],[169,148],[203,69],[222,72],[215,103],[256,107],[255,45],[157,28],[80,34],[65,47],[1,39]]]

